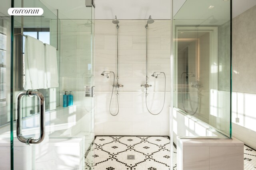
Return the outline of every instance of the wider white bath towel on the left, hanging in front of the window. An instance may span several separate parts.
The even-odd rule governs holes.
[[[25,38],[25,90],[46,87],[44,44],[27,35]]]

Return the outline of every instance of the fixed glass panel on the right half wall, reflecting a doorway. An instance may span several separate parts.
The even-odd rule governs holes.
[[[230,138],[230,1],[186,0],[173,39],[174,107]]]

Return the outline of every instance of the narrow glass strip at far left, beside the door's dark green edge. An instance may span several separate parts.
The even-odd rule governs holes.
[[[0,159],[0,169],[10,169],[11,140],[10,123],[11,110],[11,18],[7,10],[11,7],[11,1],[1,2],[0,10],[0,149],[4,155]]]

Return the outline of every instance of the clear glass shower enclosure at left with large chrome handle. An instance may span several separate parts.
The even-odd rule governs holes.
[[[12,4],[42,8],[42,16],[10,18],[11,1],[6,11],[0,11],[0,149],[4,155],[0,169],[82,170],[93,164],[85,156],[92,154],[88,150],[94,141],[94,7],[78,2],[75,5],[84,15],[76,18],[65,15],[65,4],[46,2],[15,0]],[[28,37],[56,49],[56,56],[50,55],[56,64],[44,63],[45,74],[55,74],[55,85],[26,88],[28,77],[42,71],[40,61],[44,61],[36,58],[44,57],[40,53],[29,56]],[[37,66],[32,72],[29,60]],[[67,107],[65,91],[73,96],[73,104]]]

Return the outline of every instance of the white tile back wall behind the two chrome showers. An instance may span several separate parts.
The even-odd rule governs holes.
[[[109,113],[113,76],[101,76],[104,70],[117,73],[116,25],[111,20],[95,21],[95,106],[96,135],[169,135],[170,103],[170,20],[156,20],[148,27],[148,105],[150,111],[160,111],[164,98],[164,78],[154,71],[166,73],[166,101],[159,115],[146,109],[146,20],[120,20],[119,28],[119,114]],[[116,92],[111,111],[116,113]]]

